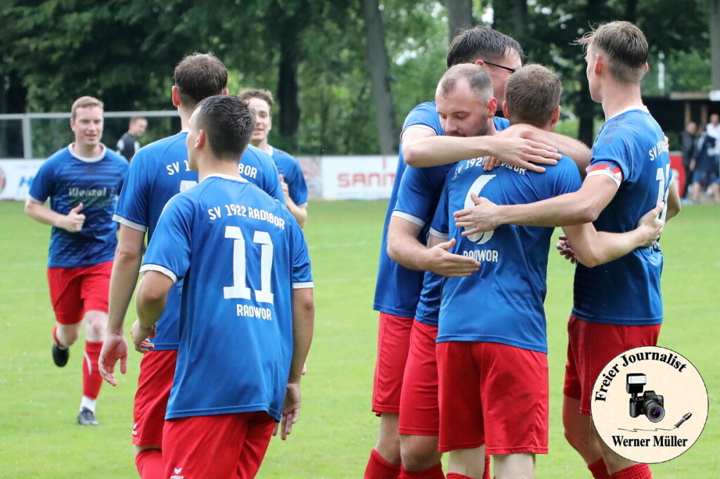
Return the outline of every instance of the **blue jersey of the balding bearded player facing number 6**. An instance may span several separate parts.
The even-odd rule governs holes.
[[[494,118],[493,123],[498,132],[510,126],[504,118]],[[407,168],[402,175],[400,188],[397,192],[397,202],[392,216],[399,216],[421,227],[421,242],[426,242],[427,227],[429,227],[440,193],[445,184],[445,178],[456,163],[448,165],[431,166],[429,168]],[[431,326],[438,325],[438,312],[440,311],[440,287],[442,278],[431,271],[423,275],[423,286],[420,291],[420,300],[415,299],[417,309],[415,319]]]

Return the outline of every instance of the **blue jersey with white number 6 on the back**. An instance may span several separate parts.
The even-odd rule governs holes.
[[[451,170],[431,233],[455,238],[450,252],[482,265],[465,278],[444,278],[438,342],[498,342],[547,352],[543,302],[554,228],[503,224],[465,237],[451,218],[473,204],[470,193],[495,204],[525,204],[576,191],[580,184],[577,166],[567,157],[545,173],[506,164],[484,172],[480,159]]]

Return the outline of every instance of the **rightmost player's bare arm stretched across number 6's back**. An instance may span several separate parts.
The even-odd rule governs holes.
[[[617,184],[607,176],[585,178],[574,193],[530,204],[498,206],[472,195],[476,206],[454,213],[455,224],[465,227],[463,235],[490,231],[500,224],[558,227],[594,222],[615,196]]]

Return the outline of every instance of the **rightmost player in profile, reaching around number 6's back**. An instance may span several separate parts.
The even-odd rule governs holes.
[[[603,105],[606,117],[582,188],[515,206],[498,206],[473,196],[478,206],[455,214],[456,224],[466,227],[466,234],[491,231],[500,224],[554,226],[590,221],[598,230],[626,232],[658,201],[667,200],[663,219],[680,211],[665,137],[642,104],[640,83],[648,56],[644,34],[629,22],[611,22],[579,42],[586,49],[590,94]],[[615,355],[657,343],[662,323],[662,252],[654,245],[600,268],[588,268],[591,265],[582,259],[579,263],[568,324],[565,437],[595,478],[649,478],[647,465],[625,460],[599,439],[590,418],[590,392],[601,368]]]

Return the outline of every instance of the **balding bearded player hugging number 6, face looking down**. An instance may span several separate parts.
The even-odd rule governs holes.
[[[492,81],[484,68],[472,63],[449,68],[436,91],[436,110],[443,131],[457,137],[478,137],[507,127],[506,119],[495,118],[496,100],[492,94]],[[489,151],[488,154],[492,153]],[[406,242],[398,232],[411,235],[414,239],[423,234],[423,229],[427,230],[426,225],[430,224],[435,214],[447,172],[453,166],[405,170],[388,233],[388,253],[400,264],[414,267],[413,263],[406,261]],[[413,242],[420,245],[416,239]],[[421,247],[425,252],[424,245]],[[479,263],[476,260],[451,255],[446,252],[448,247],[443,245],[433,250],[436,255],[432,255],[427,264],[430,270],[445,275],[469,275],[477,270]],[[410,332],[408,360],[400,393],[401,478],[444,477],[438,452],[435,362],[440,279],[435,273],[426,273]]]

